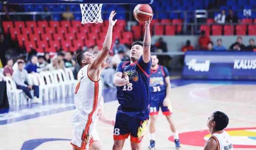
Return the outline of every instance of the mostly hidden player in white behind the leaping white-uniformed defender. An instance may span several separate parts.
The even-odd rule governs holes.
[[[104,115],[103,104],[104,104],[104,99],[102,97],[100,100],[100,105],[96,111],[97,119],[96,119],[96,121],[93,122],[93,126],[96,127],[98,119],[105,124],[114,126],[115,121],[114,120],[111,121],[111,120],[107,119],[106,116]],[[102,149],[102,147],[100,146],[100,137],[99,137],[99,134],[98,134],[96,128],[92,129],[92,134],[90,136],[89,144],[87,144],[86,149],[88,149],[88,150]]]

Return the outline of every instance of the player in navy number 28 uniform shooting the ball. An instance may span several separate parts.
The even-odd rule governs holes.
[[[117,109],[113,150],[122,150],[130,135],[132,150],[139,150],[149,119],[149,76],[151,74],[150,22],[145,21],[144,41],[136,41],[130,50],[130,61],[121,62],[114,74],[117,86]]]

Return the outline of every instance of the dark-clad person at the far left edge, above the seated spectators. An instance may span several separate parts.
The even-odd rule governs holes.
[[[0,60],[2,65],[6,65],[6,51],[9,49],[10,44],[4,39],[4,33],[0,32]]]

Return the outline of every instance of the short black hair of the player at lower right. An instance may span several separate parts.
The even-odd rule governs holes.
[[[227,127],[229,119],[224,112],[215,111],[213,112],[213,121],[216,123],[215,130],[221,131]]]

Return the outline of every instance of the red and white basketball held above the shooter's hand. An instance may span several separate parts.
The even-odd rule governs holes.
[[[148,21],[153,10],[148,4],[139,4],[134,8],[134,18],[139,22]]]

